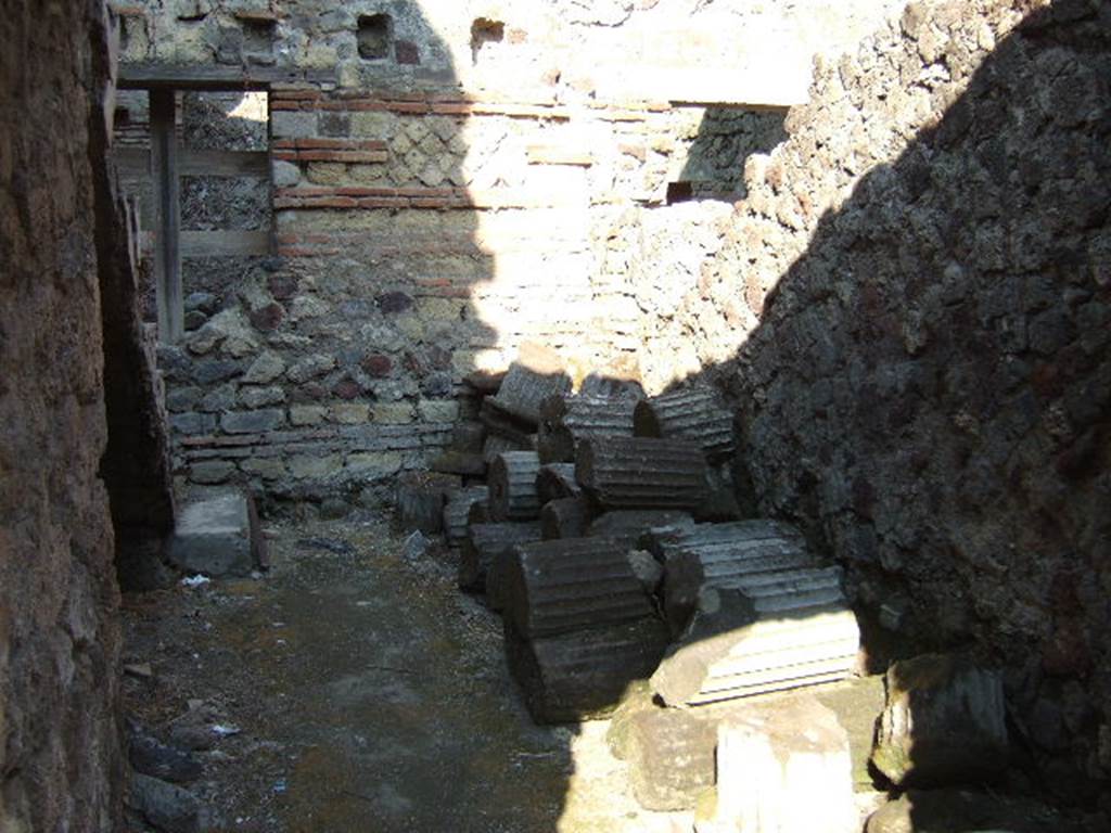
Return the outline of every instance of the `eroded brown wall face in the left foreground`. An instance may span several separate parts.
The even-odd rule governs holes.
[[[119,633],[89,159],[100,3],[0,3],[0,829],[113,830]]]

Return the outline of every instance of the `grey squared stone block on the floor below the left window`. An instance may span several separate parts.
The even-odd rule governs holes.
[[[191,573],[249,575],[262,561],[259,551],[264,544],[248,501],[240,492],[229,492],[182,506],[170,561]]]

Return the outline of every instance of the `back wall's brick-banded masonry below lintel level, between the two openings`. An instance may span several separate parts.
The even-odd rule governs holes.
[[[462,375],[522,342],[635,368],[609,238],[665,202],[704,108],[303,89],[270,108],[278,257],[207,287],[208,320],[162,351],[191,481],[373,499],[447,443]]]

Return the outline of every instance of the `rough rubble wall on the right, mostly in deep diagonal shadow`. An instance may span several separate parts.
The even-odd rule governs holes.
[[[863,610],[1007,664],[1075,799],[1111,775],[1109,14],[919,2],[821,63],[653,335]]]

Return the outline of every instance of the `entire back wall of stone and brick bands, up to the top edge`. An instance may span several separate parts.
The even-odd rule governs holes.
[[[785,110],[702,94],[704,73],[673,100],[633,94],[627,76],[663,56],[731,66],[773,34],[802,44],[783,73],[805,74],[820,42],[852,42],[901,3],[819,6],[823,34],[793,10],[685,0],[121,7],[131,66],[303,73],[269,89],[276,257],[186,263],[190,332],[161,352],[178,474],[377,501],[447,443],[462,375],[504,368],[524,341],[640,375],[660,301],[647,288],[682,284],[710,252],[714,234],[682,230],[728,213]],[[182,141],[210,147],[227,131],[196,118],[196,98]],[[129,110],[141,143],[141,102]],[[187,228],[269,219],[244,188],[187,179]]]

